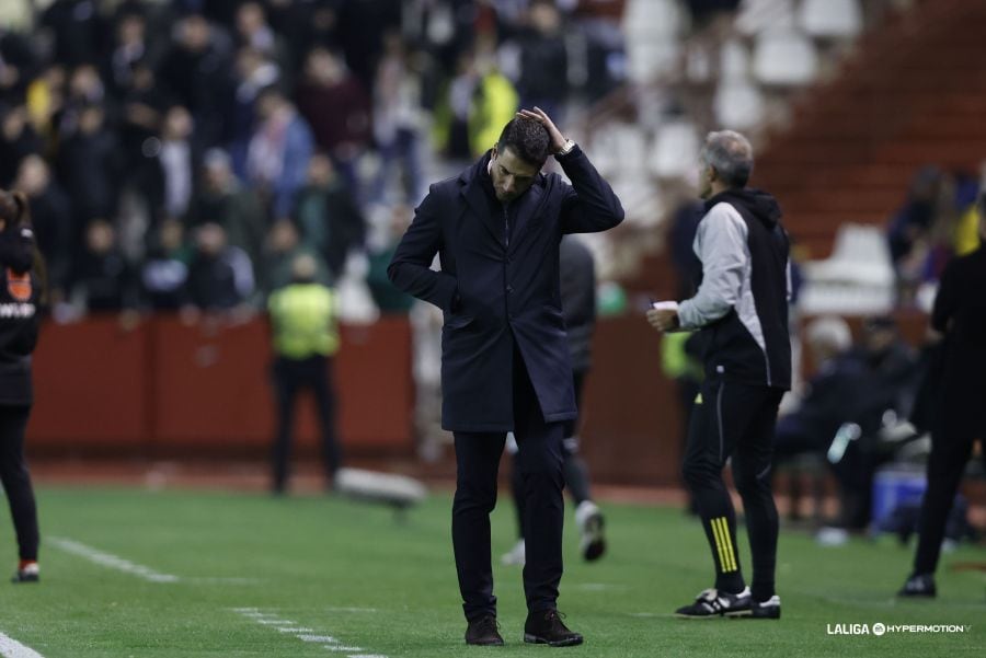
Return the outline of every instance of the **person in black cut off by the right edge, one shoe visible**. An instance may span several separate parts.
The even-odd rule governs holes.
[[[979,239],[986,245],[986,195],[979,197]],[[935,597],[935,572],[945,523],[976,439],[986,463],[986,246],[945,266],[931,311],[931,333],[942,340],[938,399],[931,422],[928,490],[918,520],[914,570],[902,597]],[[936,371],[937,372],[937,371]]]

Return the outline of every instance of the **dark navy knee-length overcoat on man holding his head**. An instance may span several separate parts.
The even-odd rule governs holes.
[[[559,243],[564,233],[604,231],[623,219],[578,148],[559,158],[572,185],[540,174],[497,216],[484,189],[489,159],[432,185],[388,268],[398,288],[445,311],[442,424],[458,431],[513,429],[515,345],[544,420],[575,417]],[[508,245],[505,222],[513,224]],[[429,269],[436,253],[440,272]]]

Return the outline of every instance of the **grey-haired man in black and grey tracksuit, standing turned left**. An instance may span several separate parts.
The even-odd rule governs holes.
[[[699,173],[706,215],[693,245],[702,263],[698,292],[680,304],[647,311],[657,331],[698,331],[703,342],[706,379],[683,474],[712,550],[715,585],[677,610],[686,619],[780,617],[770,464],[778,405],[791,386],[789,243],[773,197],[746,187],[753,164],[745,137],[730,130],[709,134]],[[736,513],[722,480],[730,458],[746,511],[752,587],[740,572]]]

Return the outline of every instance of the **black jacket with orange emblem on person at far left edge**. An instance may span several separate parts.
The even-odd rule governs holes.
[[[0,405],[34,400],[31,353],[37,344],[42,285],[32,272],[33,253],[30,228],[0,232]]]

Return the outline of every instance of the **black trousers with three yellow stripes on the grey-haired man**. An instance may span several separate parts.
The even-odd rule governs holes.
[[[733,480],[743,498],[753,554],[753,596],[773,596],[777,563],[777,507],[770,489],[770,463],[777,407],[782,391],[713,380],[702,383],[685,447],[683,474],[701,517],[712,559],[715,588],[738,592],[745,585],[736,547],[736,512],[722,480],[733,459]]]

